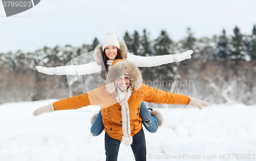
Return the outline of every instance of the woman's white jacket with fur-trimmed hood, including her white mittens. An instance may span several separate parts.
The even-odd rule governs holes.
[[[185,51],[183,53],[177,53],[175,55],[163,55],[163,56],[155,56],[155,57],[141,57],[141,56],[135,56],[128,52],[127,46],[124,43],[123,40],[119,39],[120,43],[120,56],[123,59],[127,59],[131,62],[133,62],[137,67],[153,67],[153,66],[159,66],[162,64],[168,64],[173,63],[174,61],[179,62],[183,61],[185,59],[191,58],[191,54],[193,53],[192,50]],[[98,73],[101,69],[101,62],[102,62],[102,44],[98,44],[98,46],[95,47],[95,50],[93,51],[93,56],[95,62],[88,63],[88,64],[82,64],[82,65],[67,65],[67,66],[60,66],[56,68],[47,68],[47,67],[41,67],[36,66],[36,69],[39,72],[45,73],[45,74],[56,74],[56,75],[86,75],[86,74],[92,74],[92,73]],[[79,62],[83,59],[83,57],[77,57],[75,58]],[[74,61],[74,60],[72,60]],[[71,61],[71,62],[72,62]],[[74,64],[74,63],[70,63]],[[111,67],[111,64],[110,66]]]

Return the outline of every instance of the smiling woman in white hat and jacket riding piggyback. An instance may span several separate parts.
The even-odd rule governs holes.
[[[127,52],[127,50],[128,49],[124,41],[116,37],[113,29],[108,29],[106,30],[106,37],[103,43],[96,46],[94,50],[95,62],[78,65],[75,66],[75,68],[74,66],[61,66],[56,68],[36,66],[36,69],[39,72],[50,75],[84,75],[100,72],[100,77],[105,80],[106,74],[111,68],[113,61],[117,59],[127,59],[133,62],[137,67],[152,67],[189,59],[191,58],[190,55],[193,53],[192,50],[188,50],[175,55],[140,57],[132,55]],[[149,112],[144,102],[140,105],[140,117],[144,127],[150,132],[156,132],[158,125],[161,125],[161,114],[157,111],[153,111],[152,109],[151,112]],[[104,129],[101,111],[99,111],[96,119],[93,118],[93,121],[91,133],[93,136],[98,136]]]

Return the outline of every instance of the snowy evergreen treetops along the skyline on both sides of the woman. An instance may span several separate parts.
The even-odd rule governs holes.
[[[251,35],[241,34],[238,26],[234,28],[233,32],[232,36],[228,36],[223,29],[220,36],[215,35],[212,38],[196,39],[193,32],[188,28],[187,37],[174,42],[166,31],[161,31],[160,36],[156,40],[151,40],[150,35],[144,29],[142,35],[139,35],[138,31],[134,31],[133,34],[126,32],[123,39],[129,52],[139,56],[159,56],[193,50],[193,59],[230,59],[236,63],[238,61],[255,60],[256,26],[253,26]],[[82,53],[93,51],[98,44],[99,40],[95,38],[91,45],[83,44],[81,47],[66,45],[65,47],[44,47],[43,49],[36,50],[34,53],[24,53],[20,50],[15,53],[0,53],[0,65],[8,63],[13,70],[19,64],[19,67],[24,68],[34,67],[34,65],[66,65],[72,58]]]

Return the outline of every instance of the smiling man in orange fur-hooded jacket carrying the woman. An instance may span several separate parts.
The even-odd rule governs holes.
[[[185,95],[169,93],[142,84],[139,69],[127,60],[115,60],[106,75],[106,85],[79,96],[43,106],[33,115],[101,105],[105,130],[106,160],[117,160],[120,142],[131,145],[136,160],[146,160],[146,144],[139,116],[142,101],[166,104],[189,104],[202,110],[209,103]]]

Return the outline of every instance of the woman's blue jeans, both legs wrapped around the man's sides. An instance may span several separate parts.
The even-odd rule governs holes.
[[[146,105],[144,102],[140,105],[140,117],[142,119],[142,123],[144,127],[154,133],[158,129],[158,120],[156,116],[151,116],[150,112],[147,110]],[[93,136],[98,136],[100,133],[104,130],[104,125],[102,122],[102,115],[101,111],[99,111],[99,114],[97,115],[92,127],[91,127],[91,133]]]

